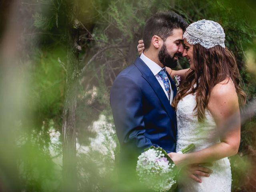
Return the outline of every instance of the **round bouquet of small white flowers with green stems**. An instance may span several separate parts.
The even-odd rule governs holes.
[[[186,153],[195,148],[190,144],[181,152]],[[166,151],[161,147],[151,146],[145,149],[139,157],[136,166],[137,176],[147,188],[154,191],[165,192],[176,184],[177,168]]]

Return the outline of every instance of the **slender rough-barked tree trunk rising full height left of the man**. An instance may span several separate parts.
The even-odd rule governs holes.
[[[73,27],[74,8],[73,1],[65,4],[67,24],[67,60],[66,60],[66,95],[63,111],[63,191],[77,191],[77,161],[76,161],[76,102],[78,92],[78,52],[76,41],[78,29]]]

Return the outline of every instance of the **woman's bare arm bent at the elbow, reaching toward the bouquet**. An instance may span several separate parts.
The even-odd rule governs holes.
[[[218,130],[220,133],[224,133],[220,138],[220,143],[189,154],[170,153],[169,156],[177,165],[185,166],[187,164],[210,162],[232,156],[238,152],[240,144],[238,96],[233,82],[231,80],[226,82],[214,86],[211,92],[208,109],[218,127],[223,127],[225,121],[234,114],[238,114],[239,118],[236,118],[235,123],[232,122],[232,128],[226,127],[226,130]],[[211,135],[209,135],[209,137],[211,137]]]

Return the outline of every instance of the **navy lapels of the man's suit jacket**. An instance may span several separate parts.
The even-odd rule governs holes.
[[[151,72],[150,68],[140,59],[137,58],[137,60],[134,62],[135,66],[140,70],[142,73],[142,77],[150,84],[156,95],[158,96],[159,100],[162,102],[167,114],[172,119],[174,117],[174,111],[172,110],[172,106],[170,105],[170,101],[166,97],[166,94],[164,93],[164,90],[162,89],[161,85],[157,81],[154,74]],[[170,78],[170,76],[168,76]],[[170,81],[172,79],[170,78]],[[174,82],[173,82],[174,83]],[[172,84],[172,83],[171,83]],[[174,84],[175,86],[175,84]],[[172,86],[173,88],[173,86]],[[176,90],[176,87],[173,88],[173,90]],[[176,91],[175,91],[176,94]]]

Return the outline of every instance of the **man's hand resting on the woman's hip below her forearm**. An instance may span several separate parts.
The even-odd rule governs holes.
[[[189,164],[182,168],[182,174],[184,174],[184,176],[188,176],[193,180],[201,183],[202,182],[201,176],[209,177],[210,174],[212,173],[211,169],[206,168],[204,166],[211,166],[211,164],[209,163]]]

